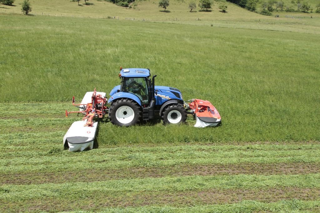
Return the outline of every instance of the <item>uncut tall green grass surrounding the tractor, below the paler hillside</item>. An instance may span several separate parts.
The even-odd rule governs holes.
[[[102,143],[320,139],[318,35],[46,16],[1,20],[1,102],[81,100],[94,88],[108,94],[119,84],[120,66],[143,67],[157,75],[157,85],[179,88],[185,100],[207,99],[222,116],[221,128],[205,130],[193,128],[192,117],[178,127],[158,120],[118,128],[106,120]]]

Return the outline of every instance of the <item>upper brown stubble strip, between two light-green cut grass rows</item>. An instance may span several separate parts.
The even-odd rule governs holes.
[[[310,174],[319,173],[320,163],[277,163],[235,165],[176,165],[168,167],[135,167],[121,170],[62,171],[58,173],[1,174],[0,184],[43,184],[65,182],[94,182],[124,178],[178,177],[190,175],[237,175],[237,174]]]

